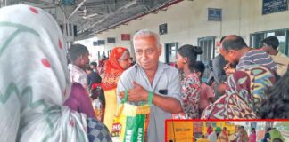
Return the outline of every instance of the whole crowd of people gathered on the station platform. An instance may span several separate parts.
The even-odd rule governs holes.
[[[97,66],[89,64],[82,44],[66,51],[62,32],[47,12],[13,5],[0,13],[4,141],[111,141],[115,110],[125,91],[127,103],[136,106],[153,95],[148,141],[163,141],[165,120],[172,114],[181,119],[288,118],[289,59],[277,51],[276,37],[264,39],[263,48],[256,50],[241,36],[224,36],[218,60],[213,60],[215,83],[208,85],[202,82],[205,66],[197,61],[201,47],[179,47],[177,68],[171,67],[159,61],[159,35],[143,29],[133,38],[136,64],[128,48],[115,47]],[[102,91],[95,94],[95,88]],[[100,99],[103,116],[95,115],[89,96]]]

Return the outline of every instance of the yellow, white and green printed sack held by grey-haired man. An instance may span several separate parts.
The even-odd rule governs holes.
[[[116,117],[112,125],[111,137],[115,141],[121,142],[144,142],[147,141],[147,128],[150,115],[150,106],[144,104],[135,106],[126,103],[126,97],[118,106]]]

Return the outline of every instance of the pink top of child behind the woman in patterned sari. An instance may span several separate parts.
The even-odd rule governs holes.
[[[215,97],[214,90],[211,86],[208,86],[206,83],[201,84],[201,94],[200,94],[200,105],[199,108],[203,110],[206,106],[210,105],[209,98]]]

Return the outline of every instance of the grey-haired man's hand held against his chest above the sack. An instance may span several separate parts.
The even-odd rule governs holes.
[[[143,86],[137,84],[136,82],[133,82],[134,88],[131,90],[128,90],[128,101],[137,102],[137,101],[147,101],[148,99],[148,91],[144,89]],[[125,98],[125,92],[121,91],[119,93],[120,99]]]

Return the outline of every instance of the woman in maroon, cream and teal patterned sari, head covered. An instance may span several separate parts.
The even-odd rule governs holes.
[[[202,113],[202,119],[254,119],[265,99],[265,89],[275,81],[266,67],[252,65],[229,75],[225,95]]]

